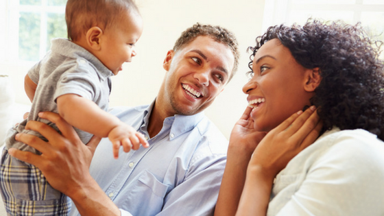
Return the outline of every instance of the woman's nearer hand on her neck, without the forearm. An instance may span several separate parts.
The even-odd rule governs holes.
[[[299,111],[268,132],[256,147],[248,168],[258,166],[274,178],[294,156],[311,145],[322,130],[322,122],[311,106]]]

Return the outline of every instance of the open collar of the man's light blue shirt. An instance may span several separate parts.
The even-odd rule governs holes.
[[[152,101],[152,104],[150,104],[144,111],[143,123],[141,125],[141,130],[143,131],[147,132],[149,116],[151,115],[155,101],[156,99]],[[160,130],[159,134],[168,132],[169,140],[176,139],[181,134],[189,132],[195,128],[197,124],[202,121],[204,116],[204,112],[198,112],[195,115],[173,115],[172,117],[167,117],[164,119],[163,128]]]

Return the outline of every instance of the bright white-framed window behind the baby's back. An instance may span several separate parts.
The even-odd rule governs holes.
[[[1,41],[2,60],[36,62],[50,49],[50,40],[67,37],[64,12],[67,0],[6,0],[3,16],[8,34]]]

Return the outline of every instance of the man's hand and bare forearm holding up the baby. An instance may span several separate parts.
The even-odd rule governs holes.
[[[29,134],[17,134],[16,140],[38,149],[41,155],[10,149],[9,153],[40,169],[51,186],[71,197],[81,215],[121,215],[119,208],[89,173],[93,153],[100,141],[94,137],[84,145],[75,130],[58,114],[43,112],[43,119],[56,123],[62,135],[44,123],[29,121],[27,130],[36,130],[48,142]]]

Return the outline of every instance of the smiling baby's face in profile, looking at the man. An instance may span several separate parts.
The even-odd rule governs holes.
[[[101,40],[101,50],[97,58],[117,75],[122,70],[124,62],[131,62],[136,56],[134,44],[143,32],[143,20],[136,12],[127,12],[121,16],[119,23],[115,23],[104,31]]]

